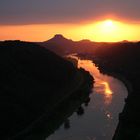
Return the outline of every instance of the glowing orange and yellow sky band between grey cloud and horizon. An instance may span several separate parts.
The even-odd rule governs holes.
[[[116,42],[140,40],[140,24],[128,24],[111,19],[93,23],[1,25],[0,40],[45,41],[55,34],[72,40]]]

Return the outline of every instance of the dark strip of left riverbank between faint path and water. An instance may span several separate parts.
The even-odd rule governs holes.
[[[38,140],[38,138],[48,137],[62,125],[82,103],[86,103],[89,100],[93,82],[94,79],[89,72],[84,69],[78,69],[75,80],[73,80],[71,84],[69,83],[69,87],[61,91],[64,92],[65,96],[59,98],[55,104],[50,105],[50,108],[47,108],[47,112],[10,139],[24,140],[33,138]]]

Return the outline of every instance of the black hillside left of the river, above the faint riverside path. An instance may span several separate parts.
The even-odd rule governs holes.
[[[71,62],[37,44],[0,42],[0,137],[8,139],[41,114],[49,115],[67,92],[75,91],[77,73]]]

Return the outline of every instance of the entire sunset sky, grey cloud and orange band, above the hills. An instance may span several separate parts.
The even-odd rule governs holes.
[[[0,40],[43,41],[57,33],[73,40],[140,40],[139,7],[140,0],[0,0]],[[101,31],[107,20],[116,30]]]

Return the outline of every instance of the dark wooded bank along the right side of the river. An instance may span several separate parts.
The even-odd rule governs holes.
[[[120,63],[121,67],[119,67],[119,64],[116,65],[111,59],[107,59],[107,61],[105,59],[102,60],[95,57],[88,57],[88,55],[82,55],[81,57],[93,60],[102,73],[120,79],[128,89],[128,96],[125,99],[124,109],[119,114],[119,124],[116,128],[113,140],[139,140],[139,69],[136,67],[136,69],[133,70],[129,67],[129,63],[126,65]],[[129,67],[130,69],[126,70],[122,65]]]

